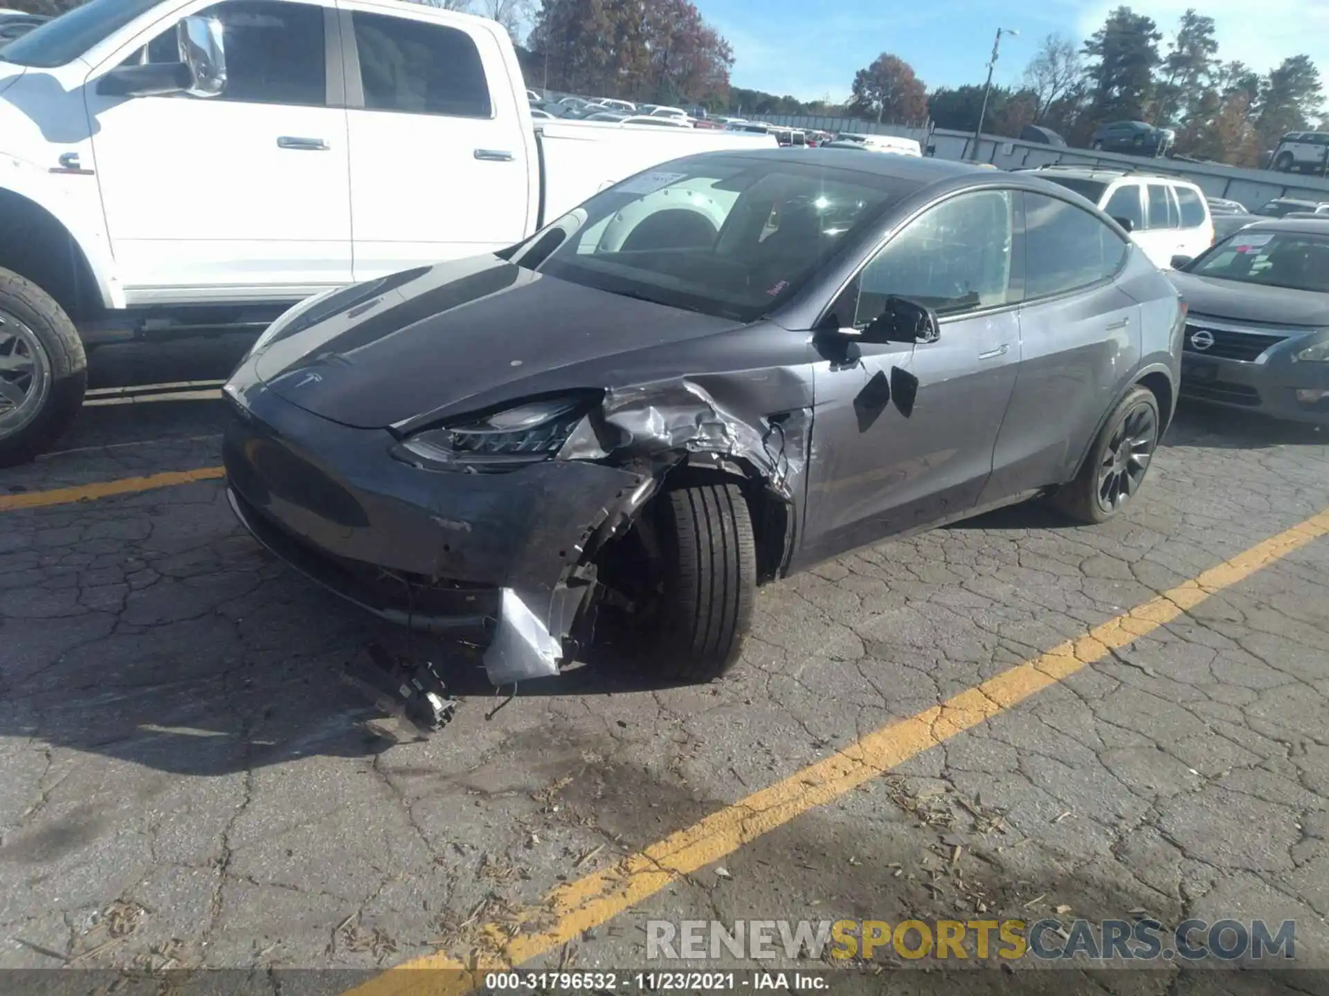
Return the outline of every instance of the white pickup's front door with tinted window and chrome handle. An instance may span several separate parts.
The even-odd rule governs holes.
[[[179,61],[174,23],[126,45],[85,86],[129,303],[298,299],[350,282],[346,113],[328,100],[332,12],[225,0],[181,9],[193,13],[222,24],[221,96],[97,93],[126,61]]]

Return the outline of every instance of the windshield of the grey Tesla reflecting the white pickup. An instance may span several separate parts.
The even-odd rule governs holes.
[[[575,228],[538,270],[752,321],[912,189],[889,177],[771,159],[668,163],[597,194],[557,222]]]

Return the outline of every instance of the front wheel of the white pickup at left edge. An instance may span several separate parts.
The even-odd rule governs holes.
[[[35,283],[0,270],[0,467],[58,440],[86,386],[88,357],[69,316]]]

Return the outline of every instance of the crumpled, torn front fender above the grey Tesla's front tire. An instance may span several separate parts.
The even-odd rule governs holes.
[[[779,382],[771,382],[779,381]],[[785,382],[787,381],[787,382]],[[807,405],[760,412],[762,398],[805,396]],[[724,404],[722,398],[732,398]],[[613,388],[558,454],[565,461],[706,453],[746,461],[783,498],[792,499],[807,467],[812,406],[805,378],[771,368],[750,373],[675,377]]]

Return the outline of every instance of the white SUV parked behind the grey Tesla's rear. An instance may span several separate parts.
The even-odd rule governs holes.
[[[1043,166],[1034,171],[1115,218],[1160,270],[1171,270],[1174,256],[1195,258],[1213,244],[1209,205],[1204,191],[1189,181],[1092,166]]]

